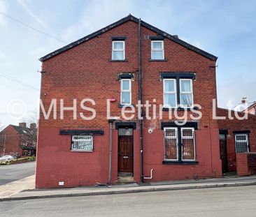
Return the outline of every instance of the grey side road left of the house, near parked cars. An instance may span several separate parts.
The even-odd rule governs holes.
[[[0,186],[35,174],[36,162],[0,166]],[[1,215],[0,215],[1,216]]]

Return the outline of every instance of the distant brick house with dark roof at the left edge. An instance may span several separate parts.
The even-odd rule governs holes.
[[[36,140],[31,140],[36,132],[34,123],[29,128],[26,123],[8,125],[0,132],[0,156],[36,156]]]

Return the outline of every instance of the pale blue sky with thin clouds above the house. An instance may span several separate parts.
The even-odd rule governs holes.
[[[129,13],[218,57],[219,107],[256,100],[255,11],[253,0],[0,0],[0,125],[38,110],[38,58]]]

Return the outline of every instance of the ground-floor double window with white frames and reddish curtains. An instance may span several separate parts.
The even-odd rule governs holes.
[[[194,128],[164,128],[164,160],[195,160]]]

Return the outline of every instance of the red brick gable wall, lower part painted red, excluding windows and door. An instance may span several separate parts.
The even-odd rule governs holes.
[[[218,123],[212,120],[212,99],[216,98],[215,61],[206,59],[185,47],[164,39],[164,56],[166,61],[150,61],[151,40],[145,36],[157,34],[145,27],[142,33],[142,71],[143,103],[145,100],[157,99],[156,105],[163,103],[163,87],[159,73],[193,72],[194,103],[202,106],[202,119],[197,132],[197,150],[199,164],[192,166],[163,165],[163,131],[160,121],[144,122],[144,156],[145,175],[155,168],[155,181],[169,179],[192,179],[197,177],[216,177],[221,175],[218,144]],[[113,62],[111,59],[112,36],[126,36],[125,62]],[[67,50],[43,62],[41,99],[48,110],[52,98],[57,98],[57,119],[41,119],[38,128],[38,155],[36,168],[36,187],[57,187],[58,181],[66,181],[67,186],[90,185],[108,181],[108,121],[106,119],[106,99],[115,98],[111,103],[111,114],[121,114],[120,81],[118,73],[132,72],[132,104],[138,100],[138,24],[129,21],[92,38],[71,50]],[[64,99],[65,106],[83,98],[93,98],[96,102],[97,117],[92,121],[73,120],[73,112],[64,112],[64,119],[59,119],[59,99]],[[91,106],[90,104],[87,104]],[[78,107],[77,112],[84,112]],[[91,113],[88,112],[87,115]],[[183,114],[183,112],[180,112]],[[86,114],[85,114],[86,115]],[[164,121],[168,112],[163,111]],[[138,123],[137,115],[134,120]],[[148,134],[148,128],[155,131]],[[95,137],[93,153],[73,153],[70,151],[70,136],[59,135],[60,128],[101,128],[103,136]],[[217,132],[217,133],[216,133]],[[113,172],[111,181],[117,179],[117,130],[113,130]],[[154,142],[153,142],[154,141]],[[153,153],[153,154],[152,154]],[[57,159],[57,160],[56,160]],[[134,131],[134,179],[140,180],[139,135]],[[182,170],[181,170],[182,168]],[[179,172],[180,171],[180,172]],[[183,171],[183,173],[181,172]],[[48,178],[45,178],[48,177]]]

